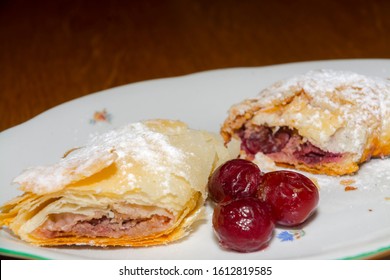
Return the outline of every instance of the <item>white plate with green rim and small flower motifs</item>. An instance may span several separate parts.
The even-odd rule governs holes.
[[[263,87],[312,69],[351,70],[390,77],[390,60],[335,60],[259,68],[234,68],[152,80],[88,95],[55,107],[0,134],[0,203],[20,194],[13,177],[32,165],[56,162],[64,151],[94,133],[149,118],[180,119],[196,129],[219,131],[228,108]],[[105,110],[105,112],[102,112]],[[100,112],[100,118],[95,112]],[[303,227],[278,228],[269,247],[239,254],[222,250],[208,219],[186,239],[151,248],[39,248],[0,233],[0,253],[49,259],[345,259],[390,250],[390,159],[372,160],[353,176],[346,192],[341,178],[317,176],[317,214]]]

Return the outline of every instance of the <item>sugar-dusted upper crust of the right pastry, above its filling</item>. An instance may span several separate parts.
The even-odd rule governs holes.
[[[281,127],[325,152],[355,162],[390,152],[390,81],[321,69],[278,81],[233,105],[221,133],[239,138],[244,127]],[[290,133],[290,132],[289,132]]]

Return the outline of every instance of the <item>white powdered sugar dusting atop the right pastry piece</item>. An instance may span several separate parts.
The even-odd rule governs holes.
[[[358,104],[363,109],[361,114],[347,117],[364,120],[367,118],[366,110],[377,116],[381,114],[380,104],[388,102],[386,97],[390,94],[390,82],[348,71],[322,69],[275,83],[262,91],[258,100],[266,103],[275,99],[275,95],[295,94],[301,89],[313,98],[314,104],[327,105],[324,109],[338,109],[340,101],[345,106]],[[337,92],[337,99],[331,96],[333,92]]]

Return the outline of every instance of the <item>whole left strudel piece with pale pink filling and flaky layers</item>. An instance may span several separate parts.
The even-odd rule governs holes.
[[[229,158],[218,135],[182,122],[129,124],[17,176],[24,194],[0,225],[41,246],[166,244],[202,217],[208,177]]]

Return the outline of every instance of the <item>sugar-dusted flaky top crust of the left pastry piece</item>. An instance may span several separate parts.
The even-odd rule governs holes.
[[[173,189],[179,186],[172,180],[182,178],[205,196],[207,172],[215,164],[213,161],[227,157],[218,141],[213,134],[191,130],[178,121],[132,123],[93,136],[58,163],[27,169],[14,182],[25,192],[52,193],[65,187],[76,188],[83,183],[76,182],[115,163],[118,178],[115,183],[99,184],[99,191],[124,194],[142,186],[143,192],[157,201],[165,193],[180,194],[179,189]],[[210,145],[204,145],[207,142]],[[201,164],[204,161],[206,165]]]

